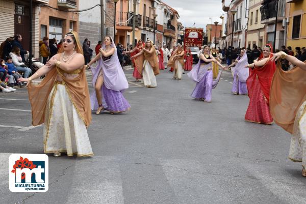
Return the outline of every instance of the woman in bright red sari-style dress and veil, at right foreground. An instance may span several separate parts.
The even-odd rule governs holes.
[[[276,69],[275,62],[270,61],[272,46],[267,44],[258,60],[249,67],[249,77],[246,80],[250,102],[245,113],[245,120],[253,123],[270,125],[273,118],[270,114],[270,88],[273,74]]]

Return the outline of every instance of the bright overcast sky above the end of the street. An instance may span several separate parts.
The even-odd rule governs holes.
[[[221,24],[220,16],[222,11],[221,0],[162,0],[177,12],[179,21],[184,27],[202,27],[206,30],[206,24],[214,24],[218,21]],[[212,20],[210,19],[212,18]]]

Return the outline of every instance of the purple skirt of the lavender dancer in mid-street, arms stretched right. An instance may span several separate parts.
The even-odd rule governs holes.
[[[192,98],[204,99],[206,102],[211,101],[213,89],[213,71],[207,71],[203,78],[196,83],[195,88],[191,94]]]

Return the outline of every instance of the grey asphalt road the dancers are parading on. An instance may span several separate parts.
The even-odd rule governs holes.
[[[249,100],[231,94],[229,72],[211,103],[190,97],[195,83],[186,74],[174,80],[166,69],[147,89],[125,73],[131,110],[93,113],[93,157],[49,155],[45,193],[9,191],[9,155],[42,154],[43,136],[31,127],[25,89],[0,94],[0,203],[306,203],[301,165],[287,158],[290,135],[244,121]]]

